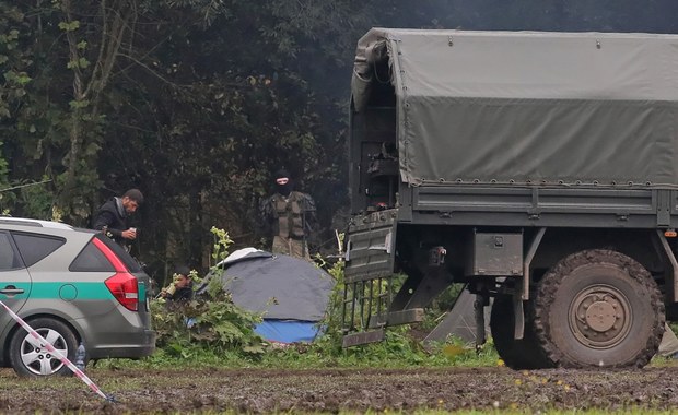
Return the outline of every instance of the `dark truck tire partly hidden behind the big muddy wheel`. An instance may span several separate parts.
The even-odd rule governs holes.
[[[529,317],[529,313],[527,313]],[[496,353],[512,369],[542,369],[552,367],[539,348],[531,321],[526,319],[523,339],[514,339],[515,317],[513,298],[498,296],[492,304],[490,330]]]

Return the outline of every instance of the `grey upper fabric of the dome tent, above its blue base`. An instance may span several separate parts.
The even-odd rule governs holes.
[[[314,263],[260,250],[235,261],[226,258],[224,266],[220,277],[233,303],[264,312],[265,319],[319,321],[335,286]]]

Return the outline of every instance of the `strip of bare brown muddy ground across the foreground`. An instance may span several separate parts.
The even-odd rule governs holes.
[[[527,412],[678,407],[678,367],[639,370],[496,368],[141,370],[92,368],[116,403],[74,378],[31,381],[0,370],[2,413]]]

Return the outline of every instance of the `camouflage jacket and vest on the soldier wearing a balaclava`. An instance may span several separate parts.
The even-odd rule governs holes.
[[[315,226],[315,202],[306,194],[292,191],[285,198],[280,193],[265,199],[260,205],[262,222],[269,235],[302,239]]]

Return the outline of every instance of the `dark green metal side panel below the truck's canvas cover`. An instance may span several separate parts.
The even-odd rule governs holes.
[[[411,194],[416,221],[426,224],[678,226],[678,191],[670,189],[420,186],[413,188]]]

